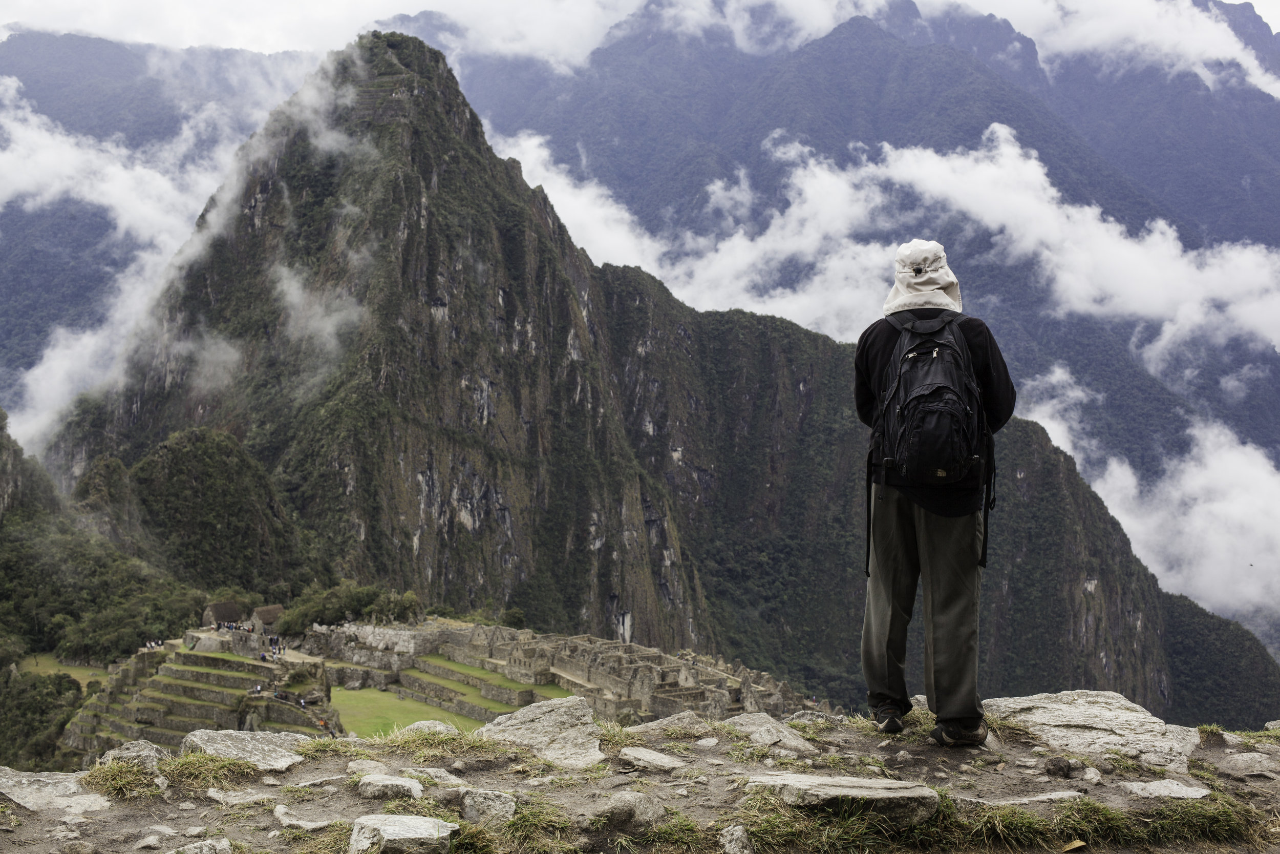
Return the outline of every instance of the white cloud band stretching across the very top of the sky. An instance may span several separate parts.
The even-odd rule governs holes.
[[[325,51],[340,49],[374,20],[435,10],[467,31],[460,45],[466,52],[531,56],[567,70],[585,64],[611,28],[645,5],[645,0],[8,0],[0,24],[172,47]],[[696,36],[722,28],[740,49],[763,52],[820,38],[852,15],[874,17],[886,0],[657,0],[652,5],[673,31]],[[1197,73],[1211,85],[1243,73],[1248,83],[1280,95],[1280,81],[1216,13],[1192,0],[919,0],[918,5],[927,17],[972,9],[1007,18],[1036,40],[1050,64],[1061,56],[1093,55],[1114,70],[1156,65]],[[1280,26],[1280,0],[1254,5]],[[1224,64],[1238,65],[1239,72]]]

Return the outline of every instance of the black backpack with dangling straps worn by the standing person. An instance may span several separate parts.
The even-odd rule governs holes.
[[[886,316],[901,334],[884,378],[884,394],[867,455],[867,572],[870,575],[872,474],[891,487],[956,483],[986,467],[979,566],[987,566],[987,517],[995,504],[996,448],[987,429],[982,389],[969,344],[956,328],[964,318],[943,311],[920,320],[910,311]]]

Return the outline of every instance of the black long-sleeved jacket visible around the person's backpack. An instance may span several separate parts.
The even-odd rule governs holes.
[[[922,320],[932,320],[942,314],[942,309],[913,309],[911,314]],[[1005,426],[1014,415],[1018,393],[1014,380],[1009,378],[1005,357],[996,344],[996,338],[978,318],[965,315],[956,325],[973,360],[973,373],[982,391],[982,408],[987,414],[987,426],[992,433]],[[893,348],[901,333],[881,319],[869,325],[858,339],[858,352],[854,356],[854,401],[858,405],[858,417],[872,426],[876,421],[881,396],[892,382],[888,375]],[[989,465],[989,462],[988,462]],[[883,475],[876,476],[883,483]],[[913,502],[938,516],[968,516],[982,510],[982,472],[978,467],[954,484],[937,487],[897,487]]]

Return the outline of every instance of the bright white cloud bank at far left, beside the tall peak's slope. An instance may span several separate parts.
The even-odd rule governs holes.
[[[154,54],[152,61],[180,58]],[[259,76],[227,102],[187,102],[175,137],[137,150],[119,140],[68,133],[32,109],[15,78],[0,77],[0,206],[37,209],[64,198],[101,206],[114,223],[114,238],[140,247],[111,284],[105,321],[92,329],[55,329],[41,360],[22,376],[22,402],[10,412],[9,431],[28,452],[42,449],[77,394],[119,378],[122,356],[148,328],[173,270],[201,247],[192,239],[196,218],[220,186],[234,184],[236,150],[246,128],[297,88],[301,68],[287,58],[276,74]],[[223,65],[220,73],[236,70]],[[306,99],[301,104],[303,111],[314,106]],[[227,371],[230,356],[225,342],[220,347],[197,353],[202,384]]]

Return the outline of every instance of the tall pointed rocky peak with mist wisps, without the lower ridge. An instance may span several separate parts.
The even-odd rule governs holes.
[[[241,438],[346,576],[705,647],[672,504],[613,401],[594,268],[497,159],[443,56],[372,35],[251,142],[64,481],[170,430]]]

